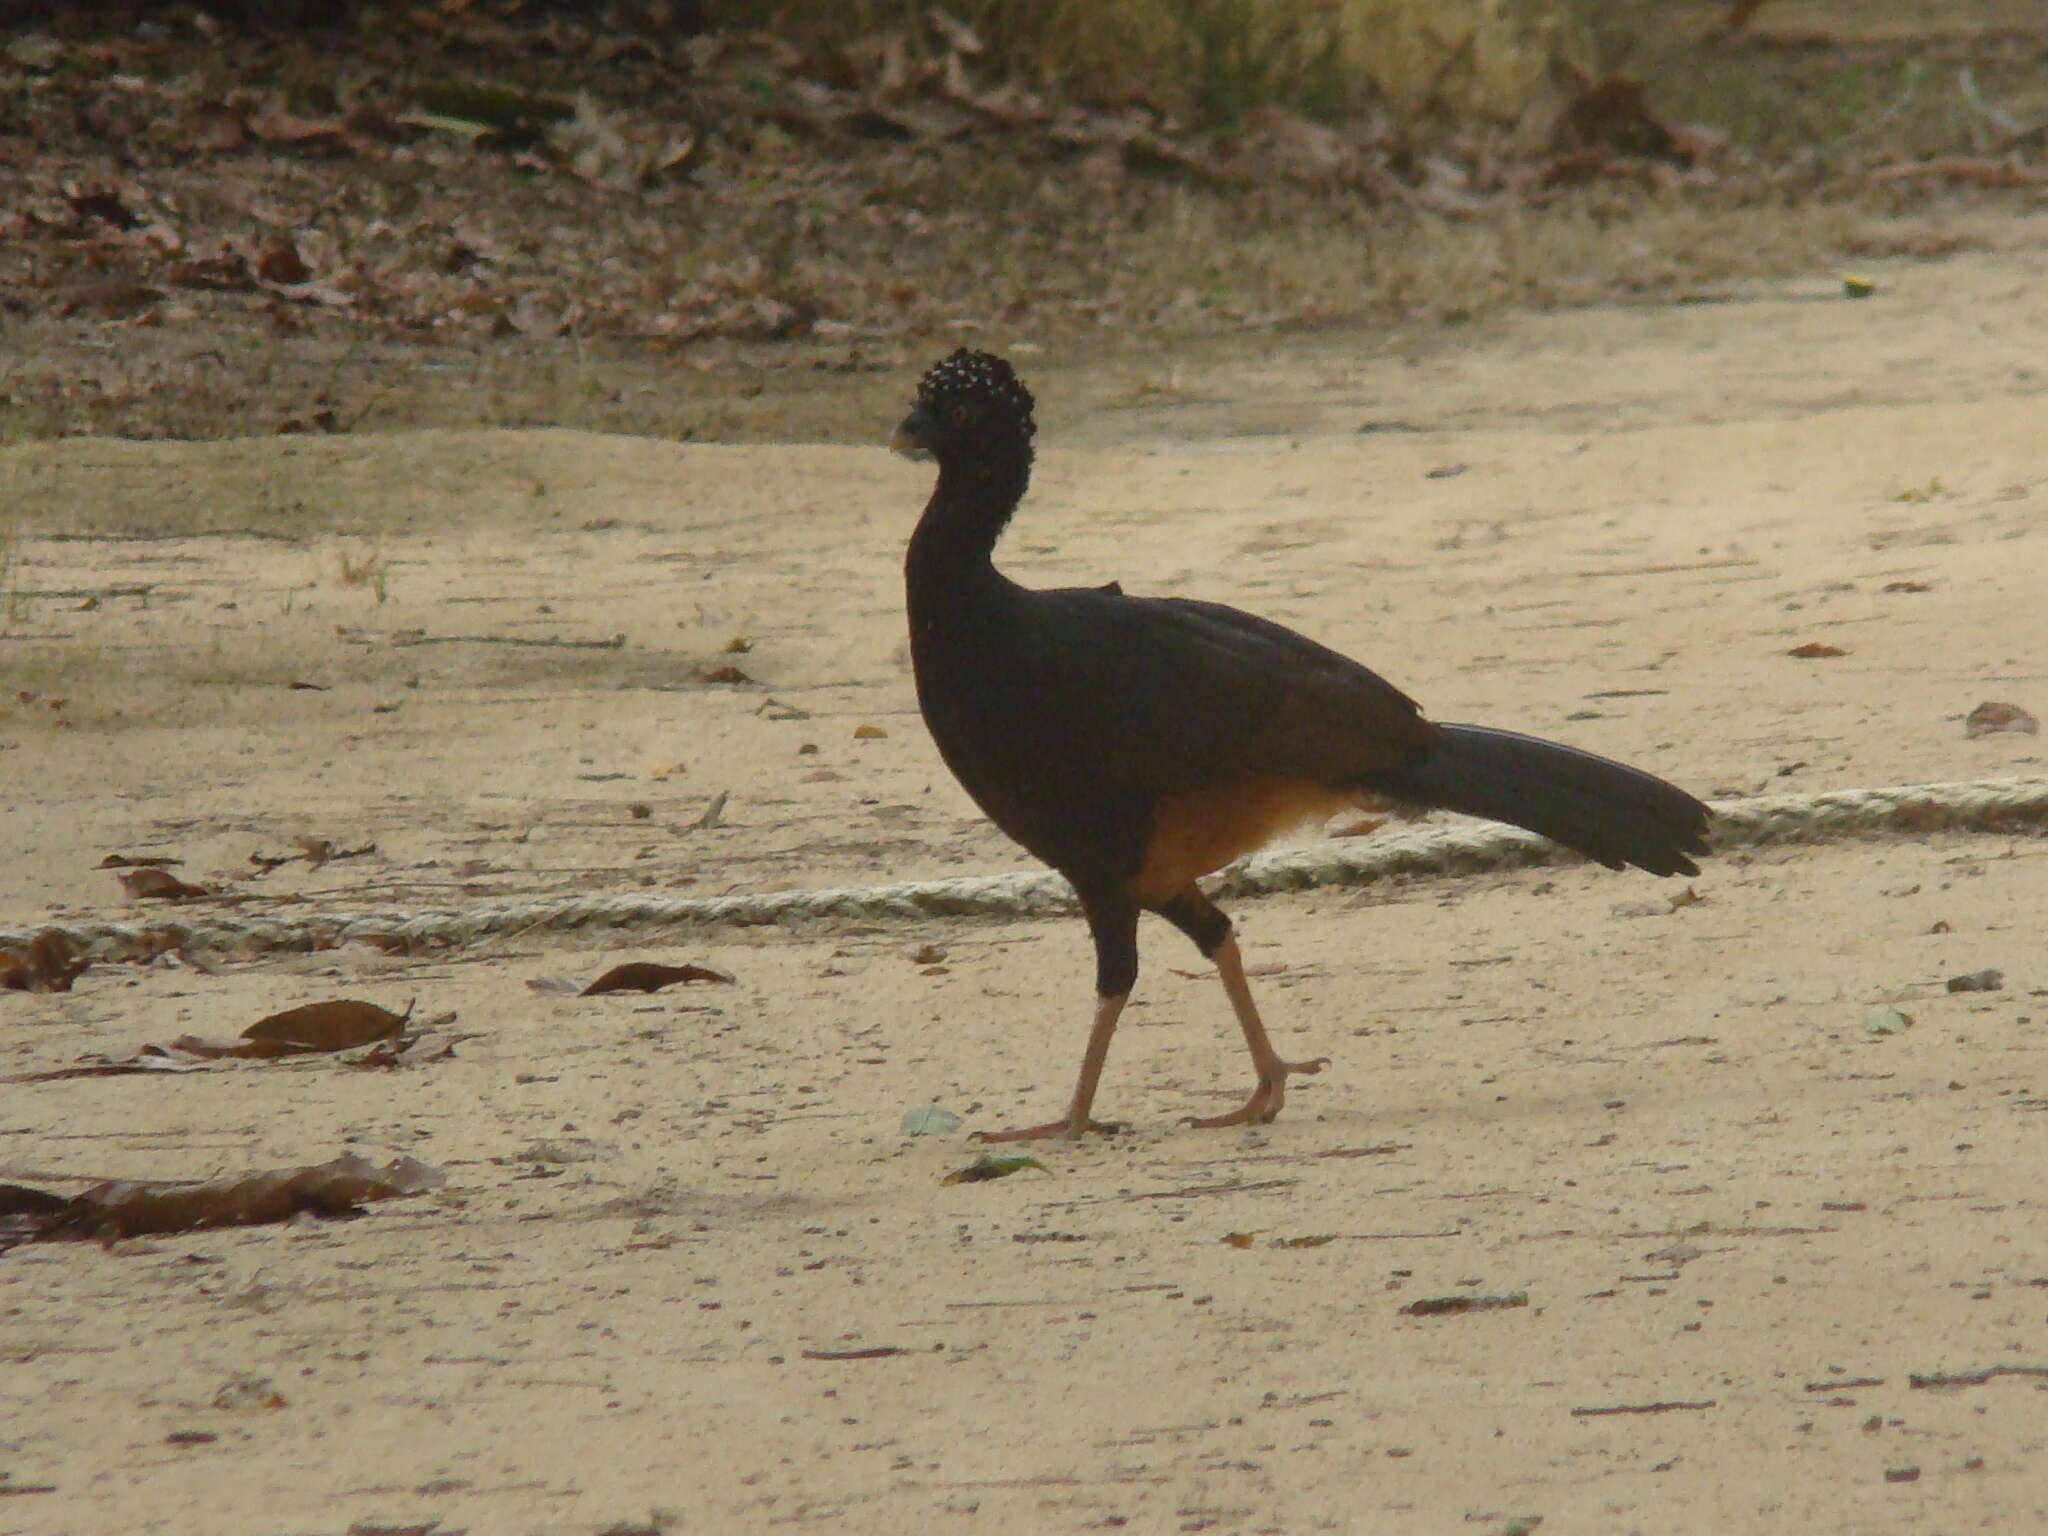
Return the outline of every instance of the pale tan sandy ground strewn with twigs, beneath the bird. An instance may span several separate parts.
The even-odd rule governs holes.
[[[1440,717],[1700,793],[2038,774],[2038,735],[1962,717],[2048,715],[2044,268],[1053,371],[1008,559],[1237,600]],[[1022,866],[918,723],[897,559],[928,475],[881,449],[59,442],[0,477],[31,530],[0,926],[137,915],[109,852],[289,909]],[[377,852],[252,879],[303,836]],[[0,1532],[2042,1524],[2044,844],[1772,850],[1694,889],[1241,903],[1282,1049],[1333,1065],[1227,1133],[1178,1126],[1249,1071],[1151,926],[1102,1102],[1126,1135],[963,1186],[963,1135],[899,1118],[1063,1104],[1075,920],[350,946],[0,997],[6,1073],[336,995],[473,1032],[389,1073],[0,1090],[10,1180],[344,1147],[451,1176],[352,1223],[0,1257]],[[737,983],[524,985],[639,956]],[[2003,991],[1944,989],[1985,967]],[[1913,1028],[1868,1034],[1886,1001]],[[1989,1366],[2034,1374],[1913,1382]]]

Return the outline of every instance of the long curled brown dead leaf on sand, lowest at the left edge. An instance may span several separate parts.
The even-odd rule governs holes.
[[[207,1182],[106,1180],[70,1198],[18,1184],[0,1186],[0,1241],[76,1237],[139,1237],[190,1233],[207,1227],[256,1227],[289,1221],[301,1210],[340,1217],[367,1200],[391,1200],[438,1190],[446,1174],[412,1157],[383,1167],[358,1153],[332,1163],[276,1167]],[[51,1204],[57,1200],[57,1204]]]

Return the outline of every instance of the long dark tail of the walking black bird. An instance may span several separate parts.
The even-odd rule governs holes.
[[[1485,725],[1438,725],[1432,748],[1366,788],[1507,821],[1608,868],[1698,874],[1712,815],[1675,784],[1591,752]]]

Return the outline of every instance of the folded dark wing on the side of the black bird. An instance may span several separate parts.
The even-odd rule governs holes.
[[[1145,791],[1266,774],[1352,784],[1427,739],[1415,700],[1284,625],[1186,598],[1020,592],[1047,754]]]

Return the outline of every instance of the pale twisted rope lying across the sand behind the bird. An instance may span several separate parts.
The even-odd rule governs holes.
[[[1757,844],[1827,842],[1858,834],[1989,831],[2048,827],[2048,778],[1978,778],[1948,784],[1892,784],[1821,795],[1755,795],[1714,803],[1716,852]],[[1397,874],[1475,874],[1524,864],[1581,862],[1577,854],[1518,827],[1458,819],[1253,854],[1223,870],[1219,895],[1370,885]],[[922,922],[930,918],[1040,918],[1073,911],[1059,874],[973,874],[954,881],[768,891],[729,897],[575,895],[469,907],[362,907],[289,911],[205,911],[193,918],[59,922],[0,928],[0,948],[23,950],[57,932],[98,958],[158,954],[166,948],[322,950],[350,940],[389,948],[465,944],[492,934],[668,926],[801,924],[817,918]]]

